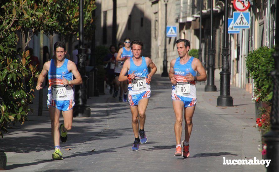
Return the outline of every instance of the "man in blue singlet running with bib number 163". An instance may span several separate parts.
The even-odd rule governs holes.
[[[147,142],[147,137],[144,131],[145,111],[151,95],[151,77],[155,74],[157,68],[150,58],[141,56],[143,48],[142,42],[135,40],[132,42],[131,47],[133,51],[133,58],[124,62],[118,79],[119,81],[129,80],[128,98],[132,113],[132,127],[135,136],[132,150],[139,150],[140,143],[143,144]],[[150,73],[148,73],[148,67],[151,68]],[[126,75],[127,72],[128,75]]]

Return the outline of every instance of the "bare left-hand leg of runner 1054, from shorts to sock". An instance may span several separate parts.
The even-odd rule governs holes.
[[[53,107],[49,106],[49,113],[50,113],[50,121],[51,121],[51,135],[54,142],[54,146],[59,146],[59,115],[60,111]]]

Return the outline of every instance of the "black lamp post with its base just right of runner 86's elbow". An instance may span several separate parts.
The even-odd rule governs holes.
[[[204,91],[217,91],[216,86],[214,85],[214,71],[215,71],[215,48],[213,47],[213,0],[211,0],[210,7],[210,47],[208,53],[208,67],[207,67],[207,85],[204,88]]]

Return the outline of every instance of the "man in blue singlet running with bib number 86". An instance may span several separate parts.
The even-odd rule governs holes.
[[[178,39],[176,48],[179,57],[171,60],[169,78],[171,79],[172,93],[171,99],[176,121],[174,125],[174,133],[176,137],[176,152],[174,156],[183,156],[188,158],[189,139],[192,132],[192,117],[194,114],[197,95],[196,81],[205,81],[207,75],[202,63],[199,59],[189,56],[190,42],[186,39]],[[196,72],[200,76],[196,76]],[[181,141],[183,109],[185,119],[185,139]],[[182,150],[183,149],[183,150]]]

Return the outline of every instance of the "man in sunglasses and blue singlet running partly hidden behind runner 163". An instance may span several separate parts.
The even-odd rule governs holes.
[[[117,54],[117,57],[116,57],[116,60],[117,60],[117,66],[116,68],[118,69],[122,69],[123,68],[123,64],[125,62],[125,60],[129,59],[129,58],[132,58],[133,57],[133,53],[132,53],[132,50],[131,50],[131,47],[130,47],[130,38],[125,38],[124,39],[124,45],[125,47],[123,48],[120,48],[119,51],[118,51],[118,54]],[[127,82],[124,81],[122,83],[122,88],[123,88],[123,91],[124,91],[124,94],[123,94],[123,102],[127,102],[127,96],[128,96],[128,93],[127,93]],[[120,101],[120,97],[121,95],[119,96],[119,101]]]

